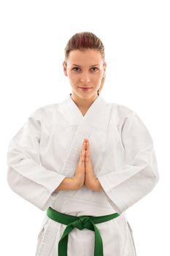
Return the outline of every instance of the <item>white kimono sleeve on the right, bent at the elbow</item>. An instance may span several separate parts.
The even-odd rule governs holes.
[[[98,177],[109,203],[119,214],[147,195],[159,180],[150,132],[135,111],[126,116],[121,138],[123,167]]]

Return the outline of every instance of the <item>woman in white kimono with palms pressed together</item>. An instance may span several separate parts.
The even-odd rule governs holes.
[[[157,184],[150,133],[101,97],[107,64],[95,34],[74,34],[63,72],[72,94],[31,113],[7,154],[11,189],[45,212],[36,256],[134,256],[125,210]]]

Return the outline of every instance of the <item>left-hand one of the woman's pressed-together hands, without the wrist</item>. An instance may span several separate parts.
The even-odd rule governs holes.
[[[80,189],[85,182],[85,140],[82,143],[82,151],[80,153],[80,159],[77,163],[73,180],[75,184],[77,184],[77,189]]]

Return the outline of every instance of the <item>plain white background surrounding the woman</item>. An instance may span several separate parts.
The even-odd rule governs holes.
[[[105,46],[101,96],[135,110],[155,143],[160,181],[126,211],[137,256],[169,255],[169,13],[163,0],[1,1],[0,255],[35,255],[45,212],[9,188],[7,146],[36,108],[72,92],[62,62],[66,42],[80,31]]]

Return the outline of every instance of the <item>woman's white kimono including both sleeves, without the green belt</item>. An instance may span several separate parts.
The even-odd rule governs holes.
[[[83,185],[54,192],[65,177],[73,177],[88,138],[94,175],[104,190]],[[96,224],[104,256],[135,256],[133,232],[125,210],[142,199],[159,179],[153,141],[139,116],[101,95],[85,116],[71,94],[63,102],[31,113],[9,144],[7,181],[12,191],[45,211],[37,236],[36,256],[58,256],[66,225],[46,215],[48,207],[74,216],[119,213]],[[69,233],[68,256],[93,256],[94,232],[74,228]]]

